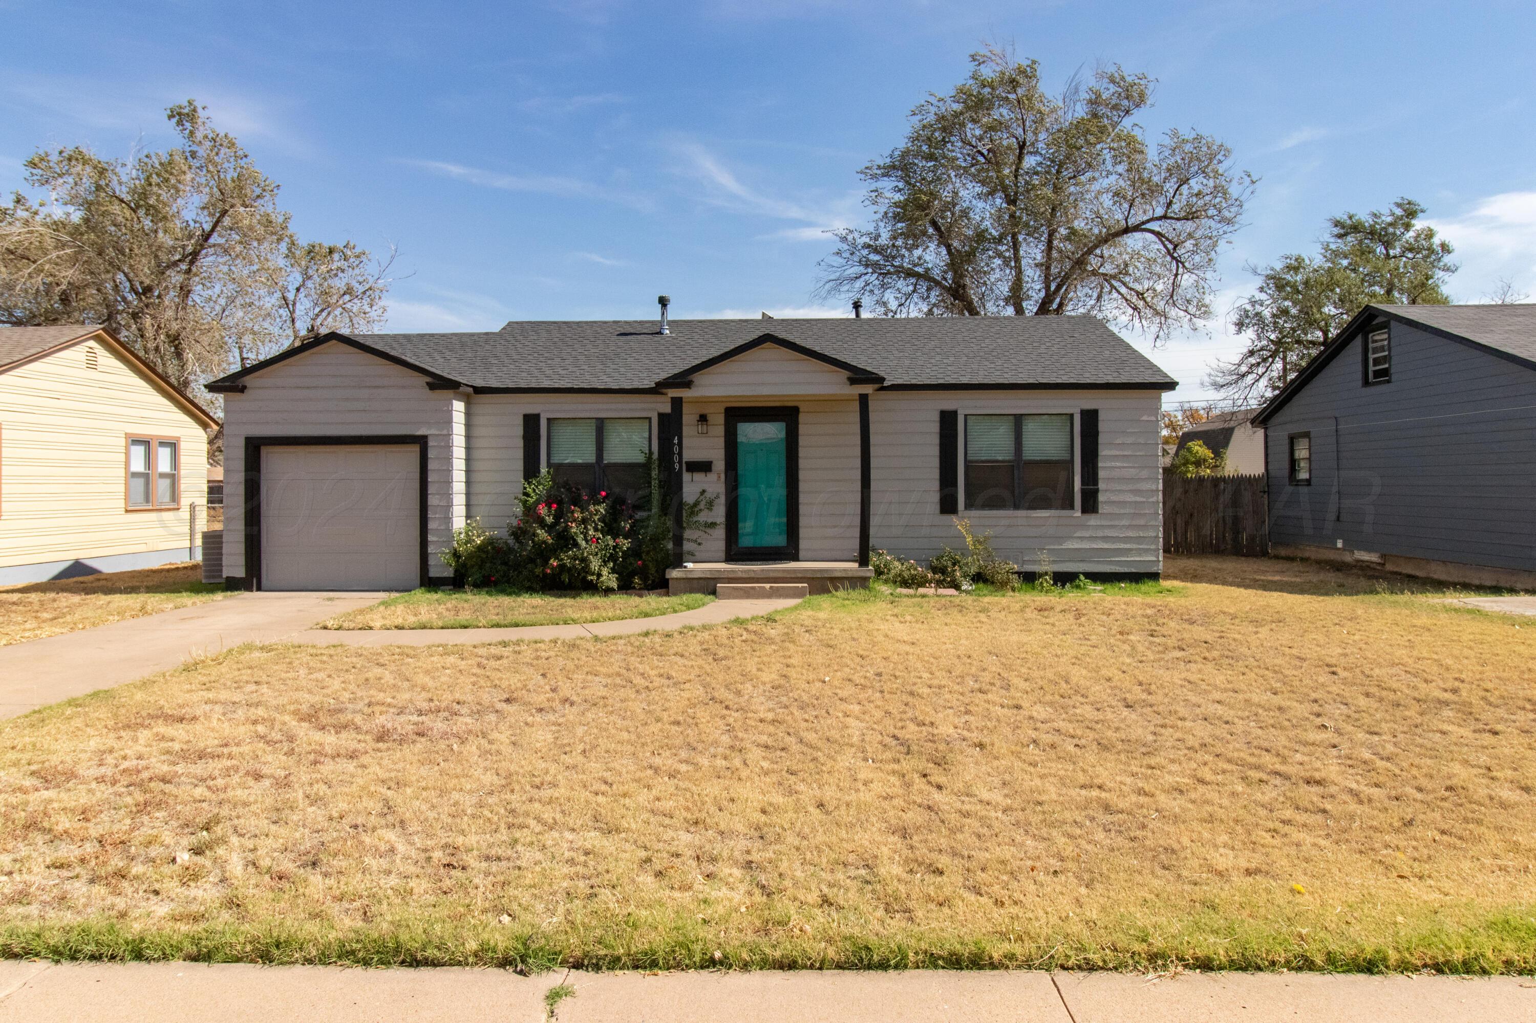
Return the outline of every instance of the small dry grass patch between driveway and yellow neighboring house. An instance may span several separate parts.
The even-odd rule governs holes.
[[[217,601],[198,562],[0,587],[0,647]]]

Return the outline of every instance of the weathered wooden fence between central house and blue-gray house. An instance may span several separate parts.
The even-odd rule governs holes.
[[[1163,472],[1163,553],[1269,553],[1264,476],[1186,478]]]

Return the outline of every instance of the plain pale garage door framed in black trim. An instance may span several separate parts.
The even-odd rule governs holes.
[[[263,590],[421,585],[416,445],[264,447]]]

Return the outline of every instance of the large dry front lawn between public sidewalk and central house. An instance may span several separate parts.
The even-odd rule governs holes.
[[[1536,622],[1169,574],[266,647],[34,713],[0,954],[1536,969]]]

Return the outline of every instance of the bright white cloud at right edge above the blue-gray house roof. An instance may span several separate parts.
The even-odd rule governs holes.
[[[1450,284],[1458,296],[1478,301],[1499,278],[1536,290],[1536,192],[1501,192],[1425,223],[1456,246],[1461,270]]]

